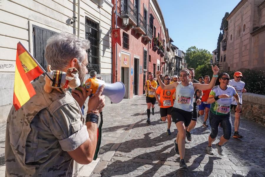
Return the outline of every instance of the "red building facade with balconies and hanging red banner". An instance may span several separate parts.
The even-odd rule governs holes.
[[[118,0],[117,18],[115,2],[112,28],[117,19],[121,45],[113,46],[112,80],[125,84],[125,98],[130,99],[144,94],[149,72],[163,71],[165,23],[157,0]]]

